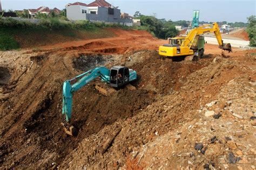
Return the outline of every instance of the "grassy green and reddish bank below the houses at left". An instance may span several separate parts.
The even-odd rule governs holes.
[[[42,19],[38,24],[0,17],[0,50],[38,47],[58,42],[116,36],[108,27],[130,30],[119,24],[69,22],[58,18]]]

